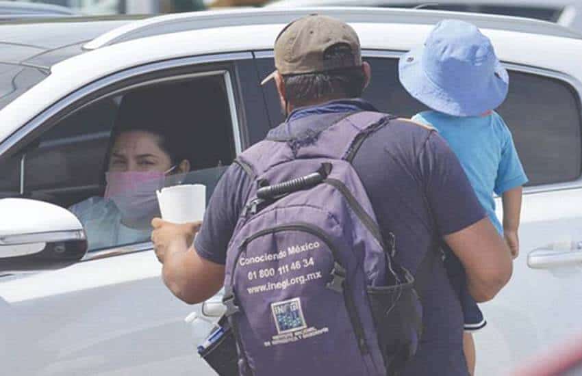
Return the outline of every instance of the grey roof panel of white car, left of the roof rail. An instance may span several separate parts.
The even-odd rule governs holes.
[[[84,43],[138,18],[142,17],[35,18],[3,22],[0,23],[0,63],[39,64],[49,69],[82,53]]]

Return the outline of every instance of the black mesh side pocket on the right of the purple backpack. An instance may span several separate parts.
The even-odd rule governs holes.
[[[392,286],[368,286],[368,300],[386,368],[394,371],[412,358],[422,334],[422,305],[414,277]]]

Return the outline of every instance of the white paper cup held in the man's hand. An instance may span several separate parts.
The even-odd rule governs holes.
[[[205,185],[175,185],[155,193],[164,221],[186,224],[203,219],[206,210]]]

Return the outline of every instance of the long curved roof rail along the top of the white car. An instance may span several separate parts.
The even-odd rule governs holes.
[[[190,12],[169,14],[136,21],[114,29],[103,36],[86,44],[86,49],[99,49],[116,43],[127,42],[164,33],[210,29],[217,27],[233,27],[243,25],[268,25],[273,23],[288,23],[311,13],[325,13],[348,23],[414,23],[434,25],[444,18],[457,18],[477,27],[518,31],[522,33],[544,34],[563,38],[582,39],[581,34],[572,29],[546,21],[531,18],[498,16],[492,14],[446,12],[440,10],[411,10],[402,8],[299,8],[299,9],[239,9],[205,12]]]

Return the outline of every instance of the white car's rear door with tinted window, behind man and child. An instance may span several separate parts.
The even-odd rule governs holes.
[[[362,54],[373,77],[366,100],[398,116],[427,109],[398,81],[398,53]],[[273,54],[261,51],[255,57],[260,75],[268,75]],[[475,334],[477,375],[505,375],[582,333],[582,87],[559,72],[506,65],[511,84],[498,112],[511,129],[529,183],[513,277],[495,299],[481,305],[488,325]],[[283,120],[275,85],[266,85],[264,92],[275,126]],[[501,219],[499,198],[496,204]]]

